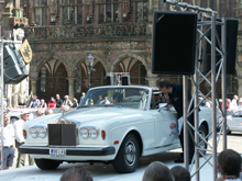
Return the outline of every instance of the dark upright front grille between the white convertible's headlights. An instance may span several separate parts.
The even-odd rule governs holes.
[[[76,146],[76,124],[48,124],[50,146]]]

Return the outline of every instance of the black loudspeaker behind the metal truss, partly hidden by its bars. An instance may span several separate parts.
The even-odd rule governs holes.
[[[221,19],[217,19],[217,21],[221,22]],[[226,19],[226,22],[227,22],[227,27],[226,27],[226,31],[227,31],[227,35],[226,35],[227,36],[226,37],[227,39],[227,73],[234,75],[239,21],[237,19]],[[205,32],[207,30],[208,27],[205,29]],[[216,30],[217,30],[219,39],[221,42],[221,25],[217,25]],[[209,31],[206,35],[211,41],[211,31]],[[216,46],[219,47],[218,39],[216,41]],[[216,63],[218,63],[220,59],[221,59],[221,55],[218,52],[216,52]],[[201,57],[200,70],[201,72],[208,72],[211,70],[211,45],[206,39],[202,41],[202,57]]]

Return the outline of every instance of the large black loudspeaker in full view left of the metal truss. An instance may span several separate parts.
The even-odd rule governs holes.
[[[152,72],[194,75],[197,13],[155,11]]]

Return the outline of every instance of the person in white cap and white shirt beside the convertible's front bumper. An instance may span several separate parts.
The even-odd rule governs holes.
[[[29,117],[30,117],[30,112],[28,110],[24,110],[23,112],[21,112],[21,118],[13,124],[14,134],[15,134],[15,147],[18,148],[18,150],[19,147],[23,145],[25,142],[23,137],[23,124],[29,120]],[[16,168],[24,167],[25,158],[26,158],[26,154],[19,152],[16,159]],[[29,166],[33,166],[33,165],[34,165],[34,159],[29,155]]]

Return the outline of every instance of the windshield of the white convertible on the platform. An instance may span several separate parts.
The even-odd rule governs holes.
[[[82,106],[122,106],[144,110],[148,101],[145,88],[100,88],[88,91],[79,103]]]

